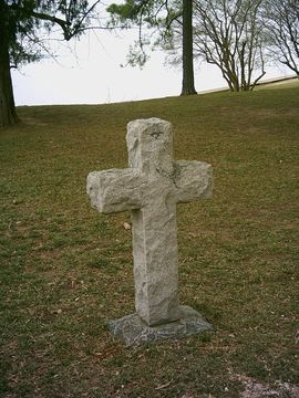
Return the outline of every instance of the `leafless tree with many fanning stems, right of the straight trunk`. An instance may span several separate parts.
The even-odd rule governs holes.
[[[194,6],[194,56],[217,65],[234,92],[254,90],[266,73],[261,1],[197,0]]]

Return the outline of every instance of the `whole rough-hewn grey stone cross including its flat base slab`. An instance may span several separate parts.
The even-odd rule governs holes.
[[[128,123],[126,143],[128,168],[87,177],[93,208],[132,216],[136,313],[109,327],[126,345],[209,329],[178,303],[176,203],[210,197],[212,166],[174,160],[172,125],[158,118]]]

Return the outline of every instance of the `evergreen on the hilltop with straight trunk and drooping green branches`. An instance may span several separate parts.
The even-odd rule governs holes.
[[[128,63],[143,65],[147,60],[145,48],[153,44],[164,50],[172,43],[173,27],[183,34],[182,95],[196,94],[193,67],[193,0],[125,0],[107,8],[111,24],[138,28],[138,40],[131,49]],[[155,34],[156,33],[156,34]],[[154,38],[154,39],[153,39]]]

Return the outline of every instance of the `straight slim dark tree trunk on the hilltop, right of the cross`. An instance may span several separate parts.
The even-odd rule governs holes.
[[[183,86],[181,95],[197,94],[193,67],[193,0],[183,0]]]

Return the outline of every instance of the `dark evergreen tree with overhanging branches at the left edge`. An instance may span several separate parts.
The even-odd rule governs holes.
[[[91,22],[95,1],[87,0],[0,0],[0,127],[18,122],[11,67],[43,56],[41,33],[54,27],[69,41],[80,35]]]

